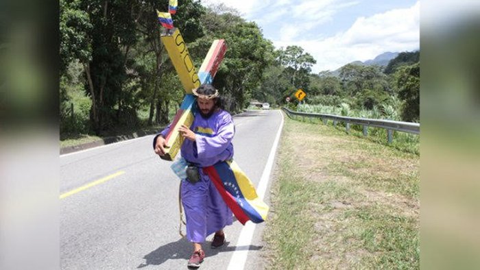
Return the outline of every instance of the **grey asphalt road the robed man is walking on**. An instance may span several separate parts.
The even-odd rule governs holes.
[[[257,186],[283,116],[279,110],[249,111],[234,121],[234,158]],[[179,180],[171,162],[154,154],[153,138],[60,156],[60,194],[67,196],[60,199],[62,269],[187,269],[192,246],[178,234]],[[256,225],[249,245],[237,247],[242,228],[238,221],[228,226],[228,245],[221,249],[207,242],[200,269],[226,269],[235,249],[248,250],[244,269],[263,269],[264,223]]]

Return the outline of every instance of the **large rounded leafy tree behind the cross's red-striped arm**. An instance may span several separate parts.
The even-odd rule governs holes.
[[[221,5],[214,7],[202,16],[205,36],[190,44],[189,51],[195,65],[200,66],[213,40],[223,38],[226,41],[228,49],[213,84],[226,97],[226,109],[238,111],[261,90],[263,73],[274,60],[274,47],[263,38],[256,23],[245,22],[237,12],[225,10]]]

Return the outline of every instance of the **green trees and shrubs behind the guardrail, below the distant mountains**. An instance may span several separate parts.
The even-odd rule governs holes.
[[[353,112],[350,116],[420,121],[420,62],[398,64],[392,74],[385,74],[380,66],[346,64],[338,77],[328,73],[310,77],[307,103],[331,109],[325,112],[316,106],[298,106],[298,110],[336,114],[348,106]]]

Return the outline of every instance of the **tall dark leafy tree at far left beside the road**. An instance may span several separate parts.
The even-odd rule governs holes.
[[[136,42],[131,10],[132,2],[126,0],[60,1],[60,73],[74,59],[84,66],[97,134],[112,123],[112,108],[126,79],[125,60]]]

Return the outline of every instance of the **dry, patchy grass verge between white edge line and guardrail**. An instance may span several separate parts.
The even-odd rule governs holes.
[[[285,116],[278,164],[268,269],[420,268],[418,154]]]

